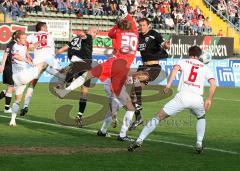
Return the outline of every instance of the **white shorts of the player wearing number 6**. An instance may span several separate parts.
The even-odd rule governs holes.
[[[179,92],[163,107],[164,112],[170,116],[184,109],[190,109],[197,118],[202,117],[205,114],[203,97],[193,93]]]

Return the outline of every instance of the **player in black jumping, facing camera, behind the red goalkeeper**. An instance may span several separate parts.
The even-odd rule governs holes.
[[[136,120],[132,123],[130,129],[135,129],[143,123],[140,111],[142,110],[142,88],[149,82],[156,80],[161,72],[159,60],[167,58],[166,49],[169,48],[169,41],[164,41],[162,35],[155,30],[150,29],[151,24],[147,18],[139,20],[139,48],[143,65],[138,67],[135,76],[142,75],[143,81],[134,80],[134,94],[136,95]],[[137,77],[136,77],[137,78]],[[134,97],[134,96],[132,96]]]

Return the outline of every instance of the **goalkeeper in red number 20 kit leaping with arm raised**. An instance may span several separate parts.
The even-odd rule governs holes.
[[[123,119],[121,132],[118,140],[129,140],[126,136],[128,127],[130,126],[135,108],[132,105],[130,96],[126,92],[124,86],[127,79],[130,66],[135,58],[138,47],[138,32],[136,22],[131,15],[127,13],[126,6],[120,6],[123,12],[123,17],[120,19],[112,29],[110,29],[108,36],[113,39],[113,56],[106,62],[97,65],[90,71],[85,72],[82,76],[75,79],[67,88],[55,88],[55,92],[60,98],[83,85],[87,80],[97,77],[102,82],[106,79],[111,79],[111,89],[115,97],[121,101],[126,109]]]

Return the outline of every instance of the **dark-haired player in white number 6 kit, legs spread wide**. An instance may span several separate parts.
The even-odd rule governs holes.
[[[181,71],[182,75],[178,85],[178,93],[171,101],[164,105],[164,107],[157,113],[155,117],[153,117],[147,123],[136,142],[128,147],[128,151],[134,151],[136,148],[141,147],[143,141],[151,132],[156,129],[159,122],[175,115],[178,112],[181,112],[184,109],[190,109],[191,112],[197,117],[196,151],[198,153],[202,152],[202,142],[206,126],[205,112],[211,107],[216,85],[213,73],[210,68],[199,61],[201,54],[202,50],[198,46],[192,46],[189,49],[190,58],[180,60],[179,63],[174,66],[168,78],[164,92],[168,92],[176,74],[178,71]],[[210,88],[208,97],[204,102],[202,95],[205,79],[208,80]]]

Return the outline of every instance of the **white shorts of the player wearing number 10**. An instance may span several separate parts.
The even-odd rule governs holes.
[[[53,67],[54,69],[62,69],[61,65],[59,64],[58,60],[54,56],[46,56],[46,57],[36,57],[33,59],[33,64],[37,65],[40,63],[46,63],[49,66]]]

